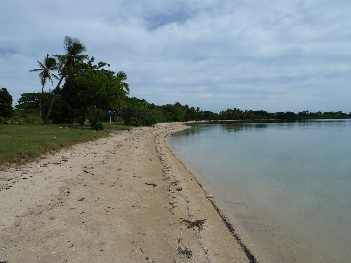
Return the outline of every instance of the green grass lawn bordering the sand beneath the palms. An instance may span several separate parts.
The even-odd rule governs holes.
[[[25,163],[48,151],[58,151],[79,142],[108,136],[108,129],[130,130],[117,123],[104,123],[104,131],[94,131],[88,124],[2,124],[0,125],[0,164]]]

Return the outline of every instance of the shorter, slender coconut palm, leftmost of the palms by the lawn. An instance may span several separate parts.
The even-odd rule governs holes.
[[[40,72],[39,77],[40,77],[40,82],[42,84],[42,89],[41,89],[40,100],[39,100],[39,118],[41,118],[41,99],[43,96],[44,85],[46,83],[46,80],[49,79],[51,81],[52,86],[54,86],[52,77],[54,77],[54,79],[57,79],[57,80],[59,80],[60,78],[52,73],[52,71],[58,70],[59,66],[57,65],[56,59],[49,56],[49,54],[46,54],[46,57],[44,57],[42,63],[38,60],[38,65],[40,68],[29,70],[29,72]]]

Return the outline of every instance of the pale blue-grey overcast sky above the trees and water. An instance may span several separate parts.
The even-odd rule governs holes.
[[[156,105],[349,113],[350,14],[339,0],[4,0],[0,88],[40,92],[28,71],[68,35]]]

